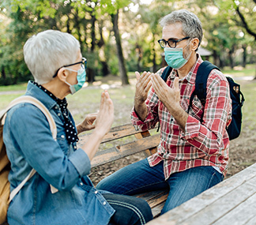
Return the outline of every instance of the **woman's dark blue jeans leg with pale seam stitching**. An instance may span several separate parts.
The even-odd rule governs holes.
[[[113,193],[103,193],[102,195],[115,209],[109,223],[111,225],[142,225],[152,219],[149,204],[140,198]]]

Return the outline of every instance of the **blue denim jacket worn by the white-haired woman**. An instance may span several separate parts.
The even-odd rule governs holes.
[[[47,107],[58,134],[55,141],[47,118],[32,104],[21,103],[8,112],[3,137],[11,162],[11,190],[32,168],[37,171],[9,204],[8,223],[107,224],[115,210],[101,195],[104,192],[92,186],[87,154],[81,148],[74,151],[66,141],[58,104],[31,82],[25,95]],[[59,191],[51,193],[50,184]]]

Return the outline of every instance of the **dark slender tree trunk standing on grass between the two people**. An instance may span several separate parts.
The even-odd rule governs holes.
[[[118,58],[119,58],[119,72],[120,72],[120,76],[121,76],[121,81],[122,81],[122,85],[126,85],[129,84],[128,81],[128,77],[127,77],[127,73],[126,73],[126,66],[125,66],[125,61],[124,61],[124,57],[122,54],[122,45],[121,45],[121,38],[120,38],[120,34],[119,34],[119,10],[117,11],[117,13],[114,15],[111,15],[111,20],[113,23],[113,29],[114,29],[114,33],[115,33],[115,43],[116,43],[116,47],[117,47],[117,54],[118,54]]]

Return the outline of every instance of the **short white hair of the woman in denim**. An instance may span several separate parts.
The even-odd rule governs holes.
[[[75,62],[78,40],[66,32],[47,30],[29,38],[23,47],[24,61],[38,84],[53,79],[56,71]]]

